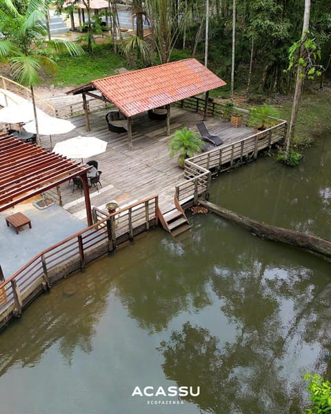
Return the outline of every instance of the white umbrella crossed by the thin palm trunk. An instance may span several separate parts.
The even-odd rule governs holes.
[[[39,135],[66,134],[76,128],[76,126],[74,126],[74,124],[67,119],[50,117],[50,115],[46,114],[37,116]],[[37,134],[36,123],[34,121],[28,122],[23,126],[23,128],[32,134]]]

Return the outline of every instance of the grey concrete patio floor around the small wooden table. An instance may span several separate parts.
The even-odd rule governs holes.
[[[12,226],[6,225],[5,219],[19,211],[31,219],[32,228],[28,225],[23,226],[17,235]],[[85,221],[77,219],[58,205],[38,210],[32,204],[19,204],[0,213],[0,266],[5,279],[42,250],[86,227]]]

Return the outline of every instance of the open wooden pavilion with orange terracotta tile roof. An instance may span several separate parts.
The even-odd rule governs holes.
[[[113,103],[127,117],[129,148],[132,149],[131,117],[141,112],[163,107],[167,109],[167,135],[170,135],[170,103],[205,93],[205,116],[208,93],[226,83],[197,59],[183,59],[163,65],[132,70],[121,75],[96,79],[67,93],[81,94],[90,130],[86,96]],[[96,93],[99,91],[99,94]],[[101,92],[101,95],[100,95]]]

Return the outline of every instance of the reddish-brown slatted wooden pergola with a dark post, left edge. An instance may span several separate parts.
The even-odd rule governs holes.
[[[0,212],[79,176],[83,183],[88,225],[91,226],[93,222],[86,175],[89,169],[90,166],[23,142],[7,133],[2,134]]]

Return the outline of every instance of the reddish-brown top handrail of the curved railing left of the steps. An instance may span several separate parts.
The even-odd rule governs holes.
[[[22,268],[17,270],[17,272],[15,272],[12,276],[8,277],[8,279],[4,280],[0,284],[0,290],[1,290],[1,288],[5,287],[8,283],[10,283],[13,279],[16,279],[16,277],[20,273],[22,273],[24,270],[26,270],[26,268],[28,268],[28,266],[30,266],[30,264],[35,262],[37,259],[40,259],[41,256],[46,255],[46,253],[49,253],[50,251],[58,248],[59,246],[62,246],[63,244],[66,244],[66,243],[70,242],[71,240],[76,239],[79,236],[82,236],[84,233],[87,233],[90,230],[92,230],[93,228],[96,228],[96,226],[99,226],[100,224],[103,224],[105,221],[110,219],[110,217],[112,217],[114,215],[118,215],[120,213],[123,213],[126,210],[130,210],[131,208],[139,206],[140,204],[145,204],[146,201],[151,201],[152,199],[159,199],[159,197],[157,195],[154,195],[154,196],[151,196],[151,197],[146,197],[145,199],[141,199],[141,200],[135,202],[134,204],[130,204],[129,206],[126,206],[125,208],[121,208],[120,210],[117,210],[114,213],[108,215],[108,217],[105,217],[104,219],[101,219],[97,223],[92,224],[91,226],[88,226],[88,227],[84,228],[83,230],[80,230],[77,233],[74,233],[74,235],[71,235],[71,236],[67,237],[66,239],[61,240],[61,242],[59,242],[57,244],[54,244],[54,245],[50,246],[49,248],[46,248],[45,250],[42,250],[38,255],[34,256],[25,266],[23,266]]]

